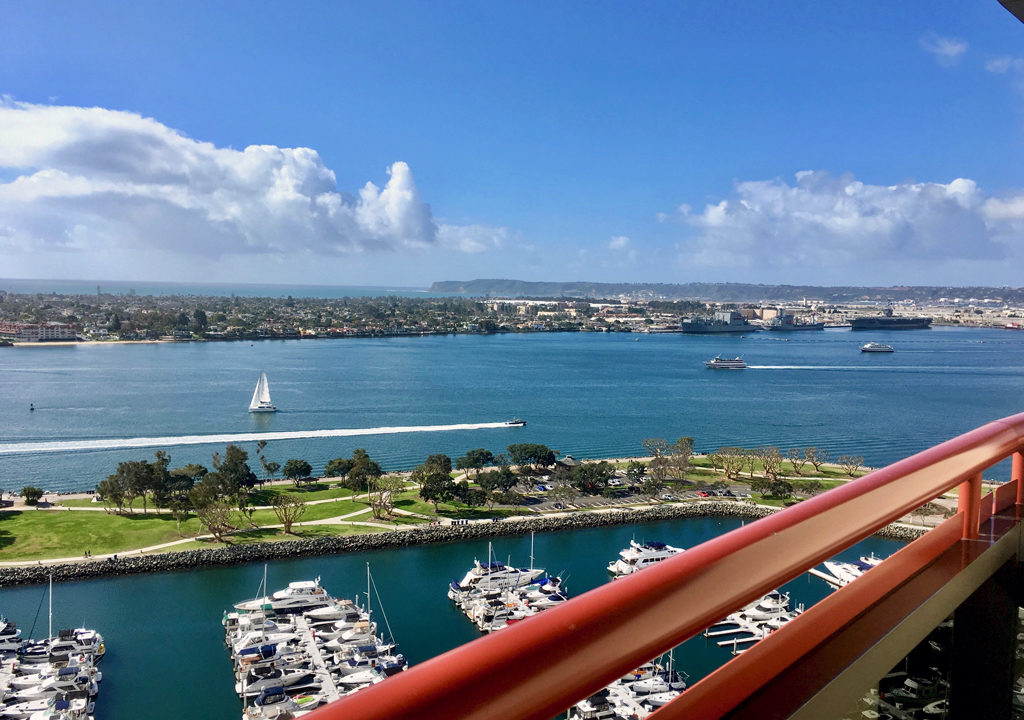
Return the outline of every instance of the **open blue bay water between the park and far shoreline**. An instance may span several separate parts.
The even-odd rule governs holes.
[[[859,352],[888,342],[892,354]],[[742,355],[744,371],[702,362]],[[260,371],[281,412],[246,412]],[[578,458],[645,437],[818,446],[884,465],[1024,409],[1024,333],[848,330],[740,337],[540,334],[0,348],[0,488],[92,489],[153,450],[5,455],[3,444],[131,436],[446,425],[526,427],[271,442],[314,469],[366,448],[385,469],[431,453],[543,442]],[[34,404],[36,411],[29,412]],[[166,447],[210,465],[224,442]],[[254,443],[248,443],[252,453]]]

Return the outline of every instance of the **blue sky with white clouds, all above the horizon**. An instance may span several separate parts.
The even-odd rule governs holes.
[[[995,0],[3,0],[0,95],[0,277],[1024,284]]]

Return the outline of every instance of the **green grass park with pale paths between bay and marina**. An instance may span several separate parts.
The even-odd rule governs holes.
[[[642,460],[642,459],[640,459]],[[625,477],[631,463],[638,459],[614,461],[593,461],[582,465],[607,463],[616,477]],[[733,497],[722,498],[781,507],[800,502],[810,495],[830,490],[844,481],[865,474],[864,468],[844,469],[839,465],[822,464],[811,470],[798,469],[792,463],[782,461],[775,474],[792,484],[792,493],[784,497],[773,496],[770,492],[750,493],[751,484],[758,478],[765,478],[763,464],[751,461],[743,471],[725,471],[709,456],[694,456],[685,472],[685,479],[669,479],[663,485],[669,493],[679,496],[677,502],[703,500],[697,493],[735,491]],[[543,470],[540,470],[543,472]],[[516,490],[518,498],[512,504],[489,502],[470,507],[453,498],[439,500],[436,505],[421,497],[422,489],[411,481],[410,473],[398,473],[402,489],[390,499],[388,512],[374,517],[371,501],[366,493],[357,493],[345,488],[336,479],[317,478],[302,485],[276,481],[255,489],[249,496],[250,509],[243,513],[236,511],[231,530],[220,539],[210,537],[195,512],[178,513],[177,516],[164,508],[156,508],[152,498],[147,498],[143,510],[140,498],[125,506],[121,511],[105,507],[88,497],[57,499],[48,506],[16,506],[0,511],[0,563],[24,563],[57,558],[80,558],[86,553],[96,557],[114,553],[128,553],[142,548],[167,545],[147,552],[175,552],[198,548],[217,548],[247,543],[281,542],[310,539],[328,535],[353,535],[365,533],[394,532],[404,526],[420,523],[447,522],[452,520],[489,520],[538,512],[578,512],[595,508],[587,502],[590,496],[579,493],[563,493],[566,498],[562,508],[553,510],[546,494],[538,492],[534,483],[547,477],[531,473],[528,468],[518,470],[522,476]],[[415,476],[415,475],[413,475]],[[466,479],[475,488],[475,475],[469,471],[456,470],[455,480]],[[645,506],[655,502],[653,494],[625,494],[625,490],[605,488],[602,498],[609,499],[621,507]],[[300,517],[285,533],[279,515],[272,509],[275,501],[284,494],[298,498],[304,505]],[[625,494],[625,495],[624,495]],[[554,496],[554,493],[551,494]],[[507,500],[506,496],[506,500]],[[575,502],[573,502],[575,500]],[[541,508],[535,508],[541,505]],[[378,513],[379,514],[379,513]]]

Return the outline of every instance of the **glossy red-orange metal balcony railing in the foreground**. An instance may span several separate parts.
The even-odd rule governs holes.
[[[1022,453],[1024,414],[989,423],[708,541],[643,573],[596,588],[528,622],[450,650],[308,717],[549,720],[766,592],[958,489],[957,513],[951,520],[785,624],[652,717],[741,717],[743,705],[751,702],[756,706],[759,693],[767,698],[763,703],[782,703],[771,698],[773,681],[809,653],[827,647],[829,638],[851,623],[862,622],[868,610],[882,606],[900,588],[904,594],[918,592],[921,605],[927,605],[931,596],[925,597],[923,586],[907,586],[907,579],[957,543],[977,539],[982,522],[1021,502]],[[982,472],[1010,457],[1011,478],[983,502]],[[999,557],[1005,559],[1009,551],[1001,552]],[[969,592],[970,587],[965,585],[957,592]],[[958,601],[962,599],[956,595],[942,608],[932,607],[928,618]],[[852,647],[857,640],[850,639],[847,644]],[[870,660],[868,650],[863,653]],[[884,668],[887,658],[877,659],[869,667]],[[772,713],[772,717],[785,717],[802,706],[813,708],[815,693],[837,673],[829,669],[810,680],[804,677],[808,673],[803,673],[807,686],[802,695],[785,698],[784,704],[792,706],[786,714]],[[850,688],[845,692],[855,696]]]

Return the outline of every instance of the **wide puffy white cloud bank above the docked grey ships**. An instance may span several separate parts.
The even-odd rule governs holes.
[[[739,182],[732,197],[677,217],[688,264],[733,268],[905,268],[1002,260],[1021,251],[1024,196],[986,197],[970,179],[870,185],[804,171],[796,182]]]

